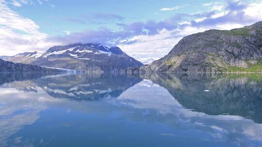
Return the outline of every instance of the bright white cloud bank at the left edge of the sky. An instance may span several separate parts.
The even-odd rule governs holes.
[[[19,0],[27,3],[25,0]],[[0,1],[1,55],[15,55],[25,51],[45,51],[55,43],[46,42],[48,34],[39,32],[39,26],[29,18],[10,9]]]

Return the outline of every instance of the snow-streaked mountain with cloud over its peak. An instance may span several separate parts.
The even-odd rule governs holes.
[[[45,53],[22,53],[8,59],[16,63],[58,67],[87,72],[114,72],[143,64],[119,47],[100,44],[70,44],[50,47]]]

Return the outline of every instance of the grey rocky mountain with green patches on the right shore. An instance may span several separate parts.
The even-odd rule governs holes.
[[[262,21],[186,36],[164,58],[126,72],[262,72]]]

